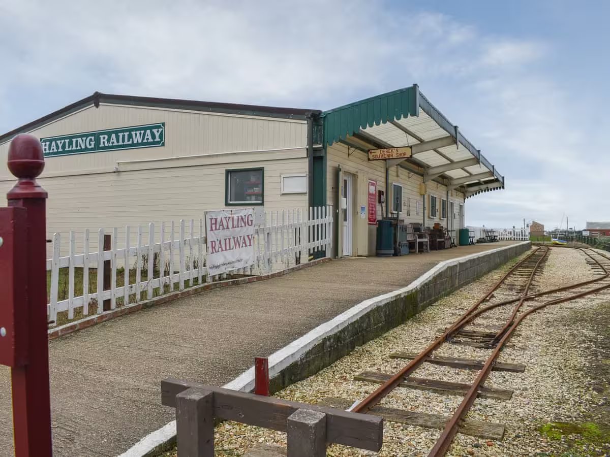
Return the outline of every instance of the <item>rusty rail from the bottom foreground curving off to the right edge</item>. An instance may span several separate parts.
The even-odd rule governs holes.
[[[605,267],[601,267],[604,269],[604,271],[607,272]],[[432,447],[432,450],[428,454],[428,457],[439,457],[445,455],[451,445],[451,442],[453,441],[453,438],[455,437],[456,433],[458,433],[459,421],[466,415],[466,413],[470,409],[470,406],[472,406],[472,404],[475,402],[476,396],[478,395],[478,391],[481,388],[481,385],[483,385],[483,383],[487,379],[487,376],[489,376],[489,373],[493,365],[495,364],[495,360],[498,358],[498,355],[500,355],[500,350],[502,349],[504,343],[511,338],[512,332],[515,330],[515,328],[517,328],[519,324],[521,324],[525,317],[529,316],[529,314],[534,313],[535,311],[545,308],[546,306],[557,305],[559,303],[575,300],[580,297],[594,294],[595,292],[599,292],[608,288],[610,288],[610,284],[599,286],[597,288],[591,289],[590,291],[583,291],[569,297],[550,300],[548,302],[542,303],[542,305],[535,306],[534,308],[531,308],[531,310],[528,310],[525,313],[521,314],[517,321],[515,321],[511,328],[509,328],[509,330],[504,334],[502,339],[500,339],[500,342],[498,342],[497,347],[495,347],[495,349],[493,350],[492,355],[490,355],[481,371],[479,371],[479,374],[475,378],[475,381],[472,383],[472,386],[470,386],[470,389],[468,389],[464,400],[462,400],[462,403],[460,403],[460,405],[458,406],[456,413],[451,417],[450,420],[448,420],[447,425],[445,425],[445,429],[443,430],[443,433],[440,434],[439,439],[437,440],[436,444],[434,444],[434,447]]]

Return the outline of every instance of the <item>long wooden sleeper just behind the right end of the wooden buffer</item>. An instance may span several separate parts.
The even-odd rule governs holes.
[[[318,403],[320,406],[331,406],[331,408],[346,409],[353,402],[345,399],[329,398],[321,400]],[[406,411],[404,409],[386,408],[385,406],[373,406],[368,411],[369,414],[381,416],[384,420],[392,422],[406,423],[408,425],[417,425],[424,428],[445,428],[445,424],[449,420],[448,416],[440,414],[417,413],[416,411]],[[464,419],[459,427],[459,433],[476,436],[478,438],[501,440],[504,436],[506,427],[501,423],[483,422],[482,420]]]

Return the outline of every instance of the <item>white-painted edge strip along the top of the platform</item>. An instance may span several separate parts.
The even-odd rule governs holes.
[[[337,330],[351,324],[356,321],[363,314],[368,313],[371,309],[376,306],[384,305],[392,299],[397,297],[404,297],[411,293],[415,289],[419,288],[423,282],[436,275],[437,273],[447,269],[455,264],[462,263],[463,261],[472,260],[474,258],[483,257],[494,252],[500,252],[502,250],[511,249],[515,246],[521,246],[522,244],[529,244],[529,241],[523,241],[523,243],[511,244],[509,246],[498,247],[498,249],[486,250],[483,252],[477,252],[464,257],[456,257],[451,260],[445,260],[437,264],[436,266],[429,269],[426,273],[418,277],[414,282],[408,286],[398,289],[397,291],[388,292],[372,299],[364,300],[364,302],[358,303],[352,306],[349,310],[339,314],[324,324],[318,325],[318,327],[311,330],[301,338],[295,339],[290,344],[285,345],[282,349],[274,352],[268,357],[269,360],[269,378],[276,376],[281,370],[289,366],[295,360],[298,360],[304,353],[309,351],[322,339],[328,335],[332,335]],[[245,370],[237,378],[224,384],[223,388],[231,389],[234,391],[248,392],[254,389],[254,366]],[[157,446],[173,439],[176,436],[176,421],[172,420],[159,430],[153,431],[137,442],[133,447],[129,448],[126,452],[122,453],[119,457],[142,457],[147,453],[151,452]]]

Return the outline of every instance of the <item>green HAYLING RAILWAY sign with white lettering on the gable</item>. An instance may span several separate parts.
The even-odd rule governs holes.
[[[87,154],[88,152],[117,151],[140,147],[159,147],[165,144],[165,122],[121,129],[97,130],[73,135],[40,138],[45,157]]]

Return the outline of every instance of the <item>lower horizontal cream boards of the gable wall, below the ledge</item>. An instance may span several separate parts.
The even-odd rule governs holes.
[[[266,211],[307,208],[306,194],[280,193],[281,174],[306,172],[306,159],[260,161],[250,165],[265,168]],[[48,238],[57,232],[68,239],[70,230],[74,230],[76,250],[81,252],[85,228],[109,230],[143,224],[146,238],[148,223],[154,222],[159,235],[161,222],[201,218],[206,210],[224,207],[225,168],[224,165],[193,166],[39,179],[49,193]],[[0,190],[8,191],[12,185],[12,182],[0,183]],[[121,243],[123,230],[119,230],[119,236]],[[132,246],[135,236],[132,232]],[[51,244],[47,247],[50,257]],[[97,250],[95,236],[90,247],[92,252]],[[67,253],[67,244],[63,244],[62,255]]]

